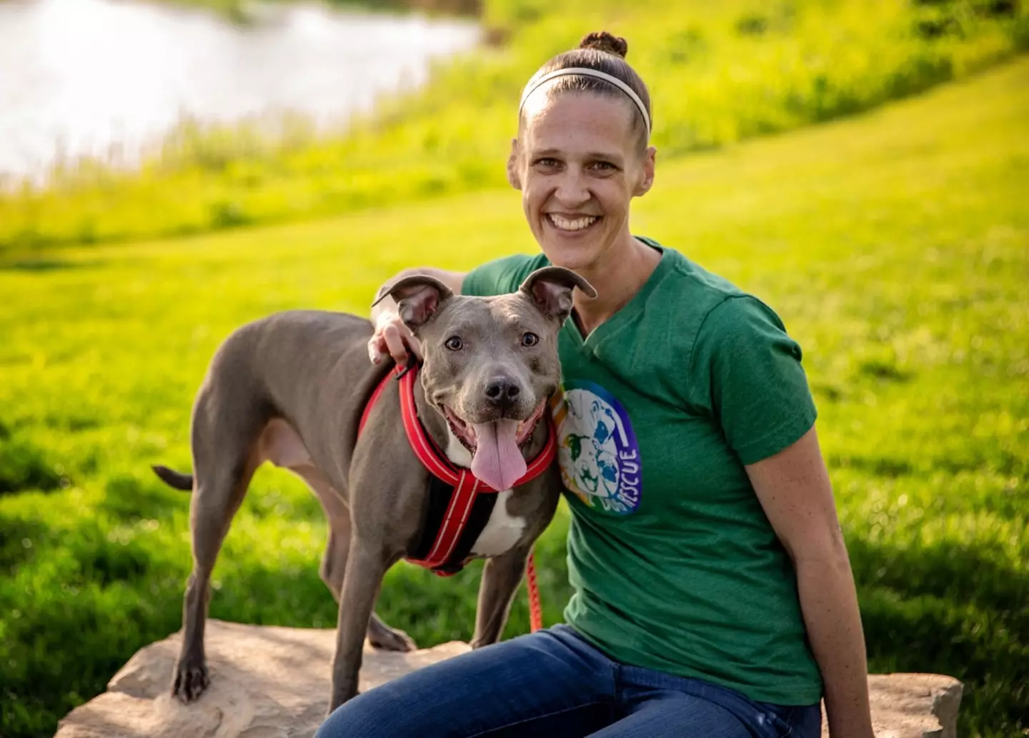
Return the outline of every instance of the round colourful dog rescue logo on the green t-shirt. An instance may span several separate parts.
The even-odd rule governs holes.
[[[626,409],[603,387],[568,382],[554,421],[565,487],[590,507],[634,512],[640,503],[640,454]]]

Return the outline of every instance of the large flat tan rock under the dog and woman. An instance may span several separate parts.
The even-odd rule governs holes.
[[[325,716],[335,631],[208,621],[211,686],[190,705],[169,689],[180,636],[137,652],[107,692],[61,722],[57,738],[314,735]],[[412,654],[365,645],[361,690],[467,649],[457,641]],[[876,674],[868,684],[878,738],[955,738],[961,682],[937,674]]]

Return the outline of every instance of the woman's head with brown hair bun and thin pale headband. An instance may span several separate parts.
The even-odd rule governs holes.
[[[526,85],[507,179],[522,190],[543,251],[596,278],[613,266],[611,256],[635,251],[628,206],[653,183],[652,116],[646,84],[624,59],[625,40],[591,34],[583,44],[543,65]],[[627,127],[635,148],[624,145]],[[615,240],[620,248],[612,250]],[[587,243],[592,248],[583,249]],[[646,257],[652,266],[652,252]]]

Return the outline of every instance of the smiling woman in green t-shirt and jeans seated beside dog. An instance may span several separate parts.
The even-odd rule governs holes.
[[[536,256],[429,273],[513,291],[547,262],[597,289],[562,329],[567,624],[480,648],[341,706],[341,736],[868,738],[864,641],[801,349],[756,298],[654,241],[647,89],[591,34],[529,81],[507,175]],[[577,71],[568,71],[577,70]],[[372,360],[418,345],[392,303]]]

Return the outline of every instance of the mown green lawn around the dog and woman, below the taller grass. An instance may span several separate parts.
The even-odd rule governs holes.
[[[635,231],[771,302],[806,351],[874,671],[962,679],[960,734],[1029,729],[1029,60],[859,118],[659,161]],[[366,314],[397,269],[529,251],[517,192],[332,220],[0,259],[0,700],[50,735],[180,626],[193,392],[241,322]],[[538,557],[560,620],[561,517]],[[211,616],[331,627],[318,503],[262,468]],[[478,567],[406,564],[380,611],[468,638]],[[506,635],[528,629],[523,597]]]

